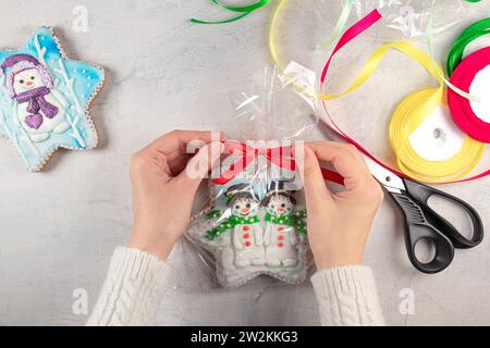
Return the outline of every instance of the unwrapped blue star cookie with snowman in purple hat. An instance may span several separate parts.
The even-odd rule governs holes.
[[[69,60],[47,27],[25,47],[0,51],[0,135],[28,170],[39,171],[58,148],[96,147],[88,105],[103,78],[101,67]]]

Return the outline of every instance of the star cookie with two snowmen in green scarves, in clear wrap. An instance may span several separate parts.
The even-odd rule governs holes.
[[[310,260],[304,195],[287,189],[284,178],[273,178],[270,172],[250,175],[246,171],[254,164],[231,181],[210,182],[211,207],[193,219],[187,236],[213,256],[224,287],[261,274],[302,283]]]

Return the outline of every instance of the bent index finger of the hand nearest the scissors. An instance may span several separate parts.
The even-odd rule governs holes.
[[[347,190],[363,187],[371,175],[357,150],[351,146],[339,146],[331,141],[321,141],[308,145],[317,158],[330,162],[336,172],[344,177]]]

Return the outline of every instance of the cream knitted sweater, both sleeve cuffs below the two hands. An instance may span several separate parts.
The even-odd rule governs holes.
[[[119,247],[87,325],[150,325],[170,269],[137,249]],[[333,268],[311,277],[322,325],[383,325],[372,272],[364,265]]]

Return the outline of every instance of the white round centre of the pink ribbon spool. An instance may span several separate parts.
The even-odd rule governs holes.
[[[473,112],[481,121],[490,123],[490,65],[475,75],[469,94],[480,98],[479,101],[469,101]]]

